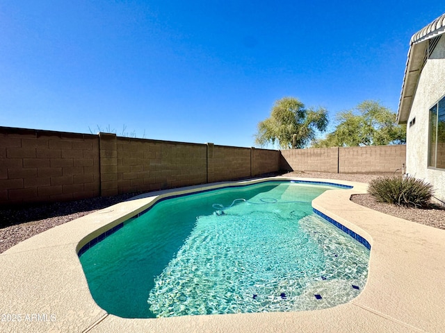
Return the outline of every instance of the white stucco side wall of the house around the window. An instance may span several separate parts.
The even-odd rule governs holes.
[[[445,96],[445,35],[442,35],[419,78],[407,122],[407,173],[430,182],[435,196],[445,201],[445,170],[428,169],[429,110]],[[416,123],[410,128],[410,121]]]

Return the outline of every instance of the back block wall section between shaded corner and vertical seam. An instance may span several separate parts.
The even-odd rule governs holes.
[[[339,148],[289,149],[280,151],[280,169],[338,173]]]

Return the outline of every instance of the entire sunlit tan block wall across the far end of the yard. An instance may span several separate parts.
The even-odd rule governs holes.
[[[280,151],[280,169],[330,173],[394,173],[406,160],[406,146],[363,146]]]

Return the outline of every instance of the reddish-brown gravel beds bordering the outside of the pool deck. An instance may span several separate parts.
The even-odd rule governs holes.
[[[283,176],[369,182],[381,175],[291,172]],[[81,216],[127,200],[138,194],[140,193],[120,194],[118,196],[91,198],[67,203],[0,208],[0,253],[44,230],[78,219]],[[378,210],[385,214],[397,216],[401,219],[445,229],[445,209],[443,207],[436,206],[428,210],[397,207],[386,203],[377,203],[369,194],[355,195],[351,197],[351,200],[359,205]]]

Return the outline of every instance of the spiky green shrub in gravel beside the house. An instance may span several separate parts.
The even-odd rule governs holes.
[[[369,182],[368,193],[381,203],[404,207],[427,207],[432,185],[412,176],[379,177]]]

